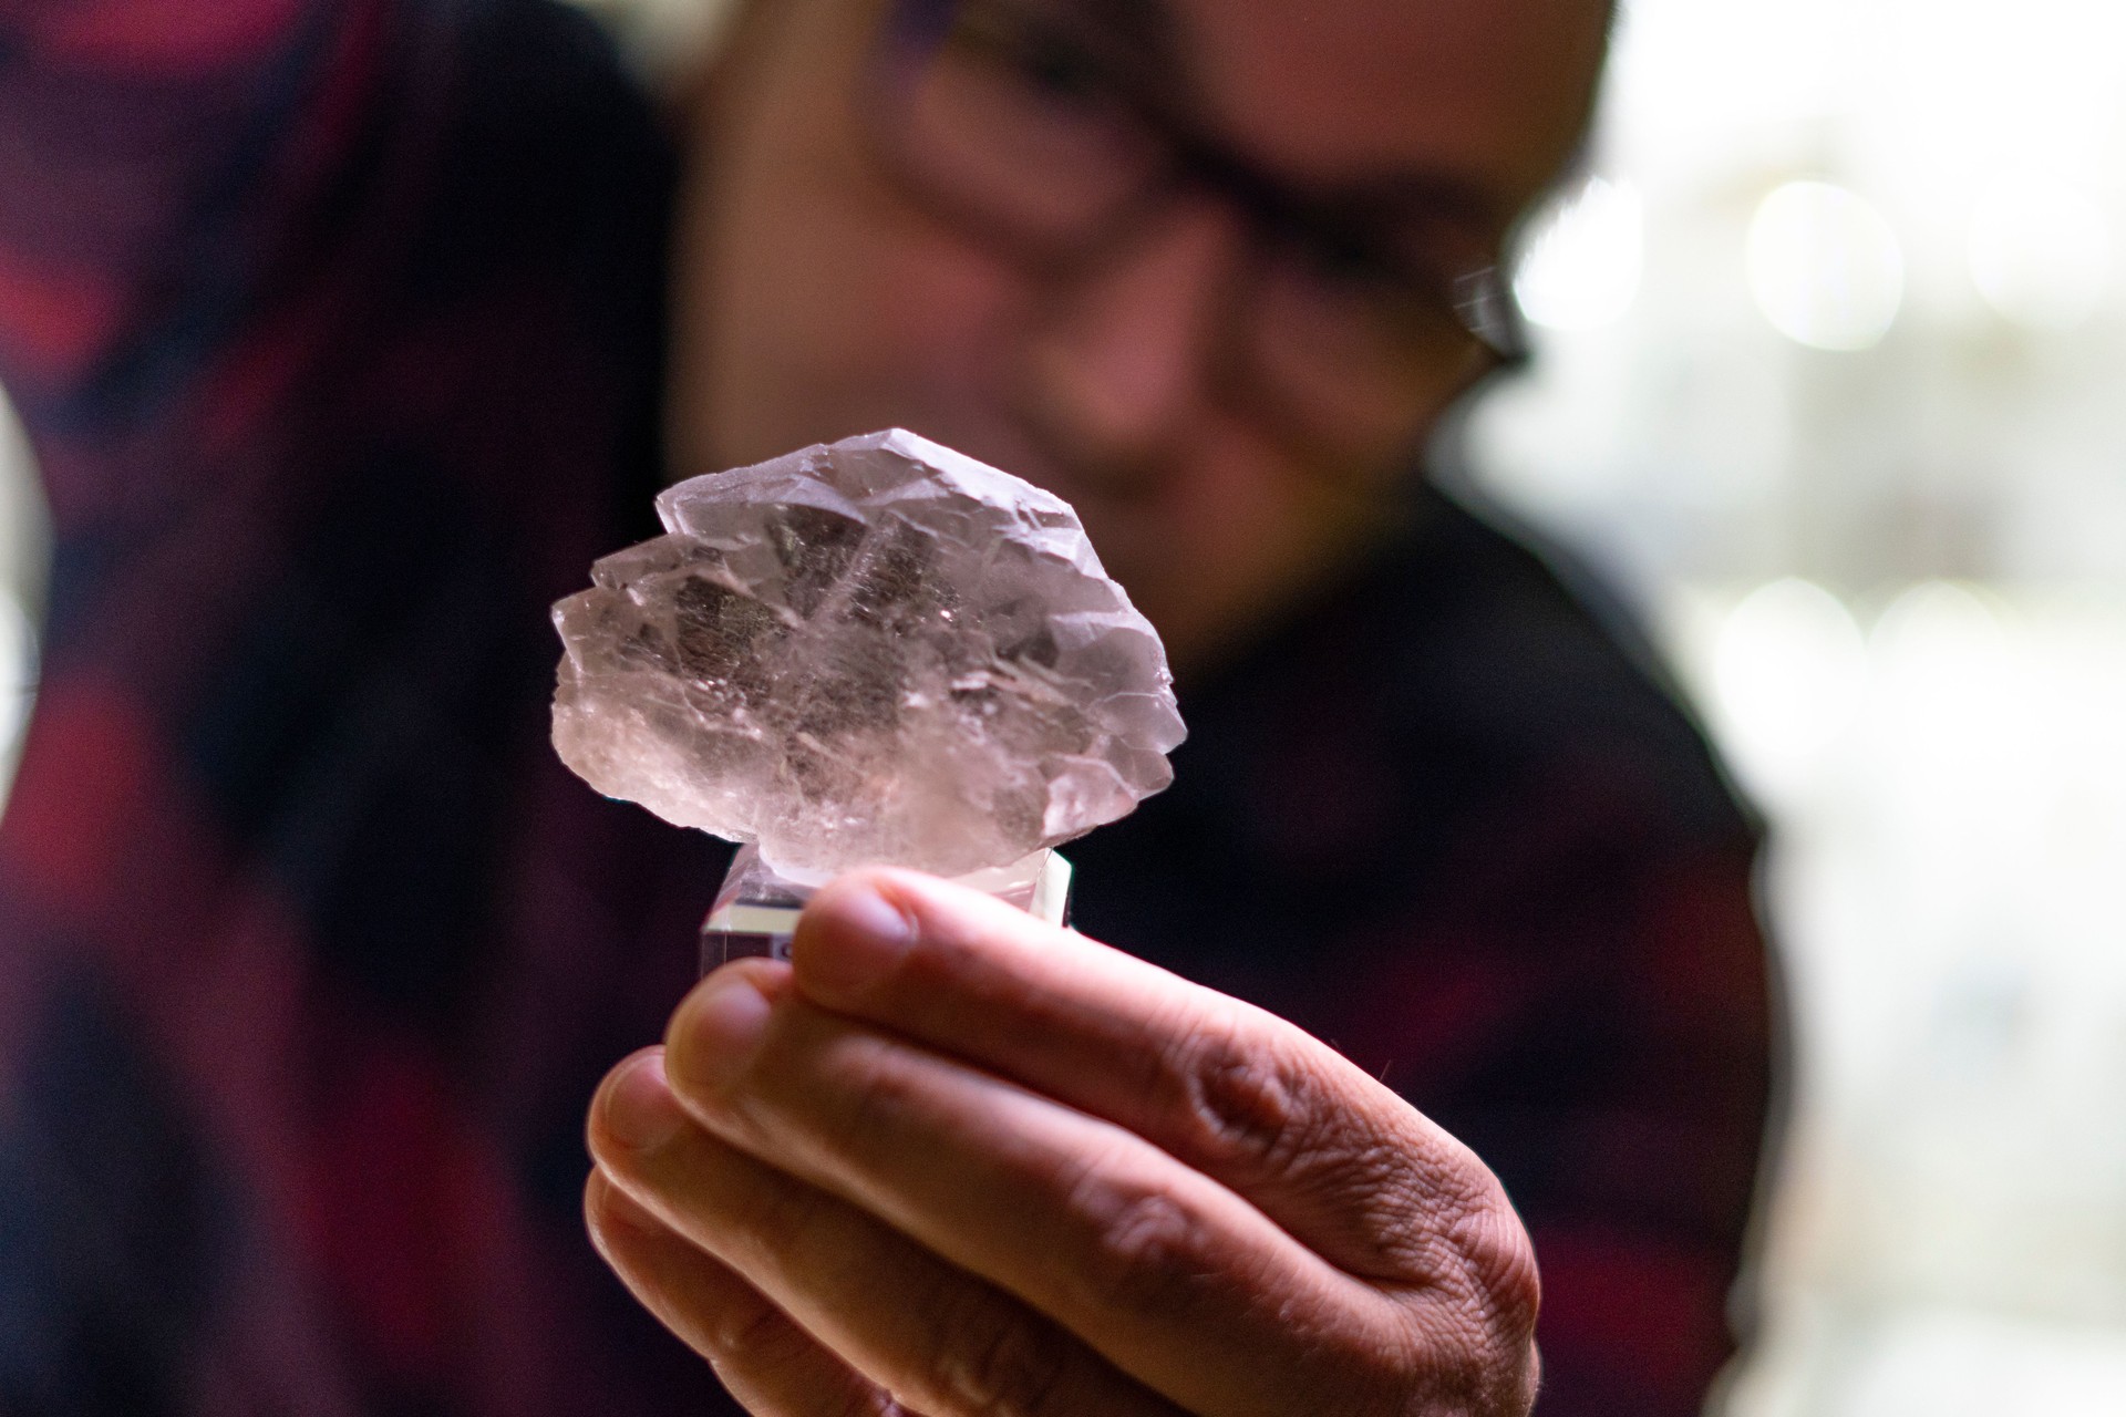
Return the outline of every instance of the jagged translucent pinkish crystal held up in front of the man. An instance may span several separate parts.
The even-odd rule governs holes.
[[[553,744],[821,882],[967,875],[1174,780],[1165,650],[1065,501],[908,431],[680,482],[555,605]]]

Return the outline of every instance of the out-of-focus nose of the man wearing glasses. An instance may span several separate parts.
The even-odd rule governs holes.
[[[1142,482],[1216,402],[1244,232],[1182,198],[1061,278],[1027,331],[1027,416],[1074,465]]]

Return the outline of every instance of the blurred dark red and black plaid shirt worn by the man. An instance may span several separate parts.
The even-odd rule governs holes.
[[[546,748],[544,608],[651,531],[670,185],[538,0],[0,0],[0,380],[57,527],[0,1413],[727,1411],[578,1219],[723,848]],[[1184,697],[1080,922],[1492,1162],[1546,1415],[1688,1413],[1767,1115],[1754,831],[1543,563],[1418,508]]]

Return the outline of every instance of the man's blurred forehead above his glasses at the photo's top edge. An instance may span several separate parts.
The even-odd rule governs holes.
[[[1320,183],[1452,178],[1503,223],[1571,155],[1605,0],[1131,0],[1195,100],[1261,161]]]

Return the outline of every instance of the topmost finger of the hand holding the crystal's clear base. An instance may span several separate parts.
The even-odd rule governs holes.
[[[1129,1128],[1352,1275],[1492,1298],[1526,1287],[1533,1307],[1524,1239],[1484,1164],[1263,1009],[891,869],[823,888],[791,962],[821,1007]]]

